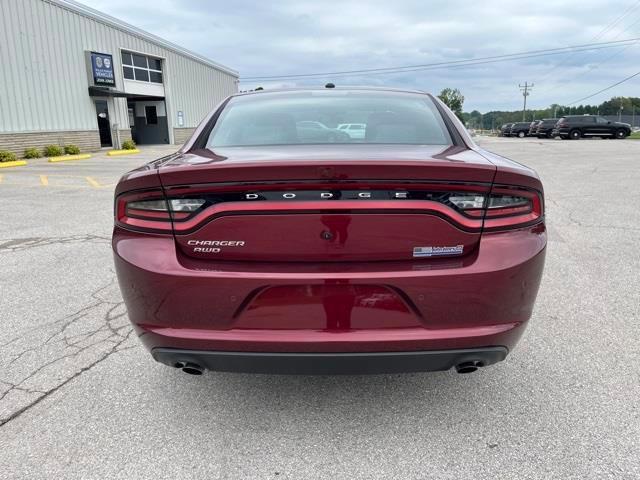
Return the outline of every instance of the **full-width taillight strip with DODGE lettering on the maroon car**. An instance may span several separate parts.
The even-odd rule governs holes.
[[[465,191],[466,189],[466,191]],[[216,215],[284,209],[287,211],[334,208],[347,210],[360,206],[373,209],[404,208],[433,211],[449,217],[461,228],[480,231],[525,227],[543,216],[542,196],[535,190],[506,185],[486,187],[458,185],[455,190],[443,184],[429,188],[399,189],[286,189],[197,191],[169,189],[125,193],[116,200],[116,224],[131,230],[182,234],[198,228]],[[483,191],[484,190],[484,191]]]

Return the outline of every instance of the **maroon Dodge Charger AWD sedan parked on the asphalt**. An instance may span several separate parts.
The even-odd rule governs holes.
[[[535,172],[421,92],[233,95],[116,188],[131,322],[191,374],[473,372],[524,332],[545,246]]]

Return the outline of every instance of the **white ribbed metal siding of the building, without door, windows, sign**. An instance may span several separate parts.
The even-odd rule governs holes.
[[[169,130],[193,128],[237,76],[79,12],[61,0],[0,1],[0,133],[97,130],[85,51],[111,53],[123,90],[120,49],[164,58]],[[110,102],[112,123],[129,127],[126,99]]]

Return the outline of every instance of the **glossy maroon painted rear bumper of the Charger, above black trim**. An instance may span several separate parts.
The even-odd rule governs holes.
[[[149,350],[248,352],[252,358],[257,352],[510,351],[531,317],[545,246],[539,224],[484,234],[477,250],[461,258],[233,264],[185,259],[172,236],[116,228],[113,238],[129,318]],[[357,305],[351,294],[340,293],[317,304],[312,292],[327,285],[365,295]],[[395,309],[397,302],[390,308],[380,298],[381,286],[406,309]],[[277,288],[310,293],[284,300],[260,296]]]

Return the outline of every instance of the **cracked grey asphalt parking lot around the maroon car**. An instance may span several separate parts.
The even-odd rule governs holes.
[[[539,172],[549,246],[524,339],[472,375],[154,363],[112,194],[171,149],[0,170],[0,478],[640,478],[640,141],[479,143]]]

